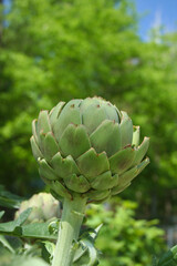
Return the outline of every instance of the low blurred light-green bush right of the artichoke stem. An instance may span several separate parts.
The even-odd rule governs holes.
[[[153,256],[165,250],[158,221],[135,219],[136,207],[134,202],[117,198],[111,205],[92,205],[87,209],[87,225],[103,223],[95,244],[103,253],[102,266],[152,266]]]

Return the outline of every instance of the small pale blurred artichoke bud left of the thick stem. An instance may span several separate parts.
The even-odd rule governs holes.
[[[32,207],[32,211],[25,224],[46,222],[61,216],[59,202],[49,193],[34,194],[30,200],[23,201],[15,212],[14,218],[18,218],[29,207]]]

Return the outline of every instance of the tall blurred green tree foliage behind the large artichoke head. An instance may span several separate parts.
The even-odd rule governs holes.
[[[0,10],[1,182],[20,195],[41,190],[31,121],[61,100],[97,94],[150,136],[152,163],[123,196],[167,222],[177,202],[177,33],[157,29],[143,42],[131,0],[12,0]]]

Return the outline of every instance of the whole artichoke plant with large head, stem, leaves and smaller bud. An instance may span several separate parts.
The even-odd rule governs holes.
[[[126,112],[97,96],[41,111],[32,122],[31,146],[52,195],[39,194],[21,203],[2,193],[2,205],[20,207],[14,221],[0,224],[0,242],[13,254],[9,265],[98,265],[94,242],[102,225],[82,226],[86,206],[107,202],[127,188],[149,163],[144,158],[148,145],[148,137],[139,144],[139,126]],[[42,241],[35,243],[37,238]],[[17,246],[22,247],[18,253]],[[155,259],[155,265],[177,265],[177,247]]]

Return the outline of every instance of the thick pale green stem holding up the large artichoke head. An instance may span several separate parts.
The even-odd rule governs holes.
[[[72,201],[64,198],[62,218],[59,225],[59,237],[54,250],[52,266],[71,266],[73,262],[72,247],[77,241],[83,222],[86,198],[81,196]]]

